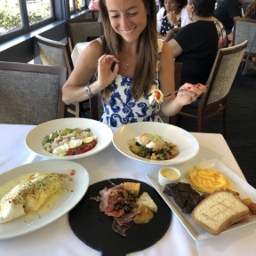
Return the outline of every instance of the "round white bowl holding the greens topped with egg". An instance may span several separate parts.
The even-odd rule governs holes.
[[[161,135],[164,141],[172,142],[177,145],[179,151],[178,156],[170,160],[156,161],[145,159],[132,153],[129,148],[129,140],[146,132],[154,132]],[[199,150],[199,143],[196,138],[189,132],[174,126],[172,124],[156,123],[156,122],[140,122],[125,124],[118,128],[113,135],[113,144],[124,156],[150,164],[179,164],[196,156]]]

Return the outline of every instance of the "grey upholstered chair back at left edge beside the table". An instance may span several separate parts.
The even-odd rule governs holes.
[[[0,124],[42,124],[66,117],[67,68],[0,61]]]

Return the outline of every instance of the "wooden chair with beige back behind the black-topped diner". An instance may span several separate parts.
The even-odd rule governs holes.
[[[228,92],[233,84],[247,44],[248,41],[246,40],[242,44],[220,49],[206,82],[208,85],[207,92],[203,93],[201,99],[180,110],[180,116],[196,118],[197,132],[204,132],[205,121],[222,113],[223,135],[226,137]]]

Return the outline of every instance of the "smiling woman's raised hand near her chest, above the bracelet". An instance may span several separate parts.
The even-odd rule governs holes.
[[[116,78],[119,70],[118,63],[119,60],[114,55],[104,54],[98,60],[97,83],[100,86],[100,91],[105,89]],[[115,65],[114,68],[112,68],[113,64]]]

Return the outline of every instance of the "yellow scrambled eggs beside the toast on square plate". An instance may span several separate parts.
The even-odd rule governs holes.
[[[215,190],[232,190],[232,185],[228,178],[220,171],[203,169],[198,166],[188,172],[191,185],[199,192],[212,194]]]

